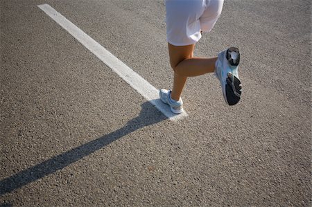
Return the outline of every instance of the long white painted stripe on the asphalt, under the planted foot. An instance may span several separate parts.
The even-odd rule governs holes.
[[[62,28],[67,30],[69,34],[75,37],[78,42],[83,44],[89,51],[94,53],[98,59],[104,62],[112,71],[117,73],[125,82],[130,84],[130,86],[141,94],[146,100],[148,100],[152,105],[154,105],[159,111],[162,112],[166,117],[171,120],[177,120],[187,116],[187,113],[176,115],[173,114],[162,100],[159,99],[159,90],[155,89],[153,85],[147,82],[139,74],[135,73],[130,67],[121,62],[117,57],[112,55],[110,51],[107,51],[101,44],[98,44],[92,37],[89,37],[83,30],[80,30],[77,26],[71,23],[68,19],[62,16],[58,11],[54,10],[48,4],[38,5],[38,7],[43,10],[46,15],[51,17],[56,23],[58,23]]]

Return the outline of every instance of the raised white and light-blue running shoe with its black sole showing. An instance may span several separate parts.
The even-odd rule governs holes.
[[[221,51],[216,62],[216,77],[220,80],[223,97],[228,105],[236,105],[241,99],[239,59],[239,49],[232,47]]]

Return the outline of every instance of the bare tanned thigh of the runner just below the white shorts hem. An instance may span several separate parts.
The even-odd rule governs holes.
[[[193,57],[193,51],[195,44],[190,44],[187,46],[174,46],[168,43],[168,51],[170,57],[170,64],[173,69],[182,62],[183,60]]]

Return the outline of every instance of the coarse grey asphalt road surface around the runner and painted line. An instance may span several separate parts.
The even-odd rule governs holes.
[[[231,0],[196,55],[241,51],[241,102],[190,78],[172,121],[38,5],[171,88],[162,0],[0,0],[0,206],[311,206],[311,2]]]

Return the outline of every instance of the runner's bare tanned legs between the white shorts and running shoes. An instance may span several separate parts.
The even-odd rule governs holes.
[[[200,58],[193,57],[195,44],[187,46],[173,46],[168,43],[170,64],[174,71],[173,89],[171,98],[179,100],[187,77],[213,73],[217,57]]]

